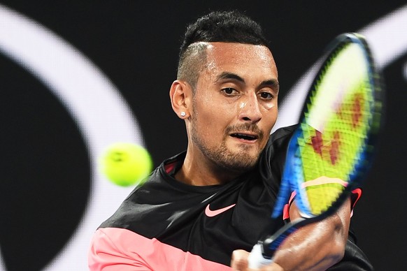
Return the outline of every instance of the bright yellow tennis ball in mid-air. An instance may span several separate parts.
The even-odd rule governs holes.
[[[143,184],[151,170],[151,156],[140,145],[117,142],[107,147],[101,157],[101,172],[120,186]]]

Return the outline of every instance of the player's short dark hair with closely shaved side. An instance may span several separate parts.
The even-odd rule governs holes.
[[[190,24],[180,47],[178,79],[196,87],[200,71],[206,61],[205,43],[245,43],[264,45],[269,43],[262,27],[247,15],[237,11],[213,11]]]

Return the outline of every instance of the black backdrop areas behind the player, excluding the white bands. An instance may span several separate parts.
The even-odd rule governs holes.
[[[168,91],[176,78],[178,47],[187,23],[210,10],[238,9],[262,24],[278,66],[283,102],[335,36],[380,22],[399,8],[405,10],[406,1],[0,0],[0,10],[48,29],[99,68],[129,106],[155,166],[186,147],[185,126],[173,114]],[[13,35],[7,34],[8,27],[0,15],[5,42],[4,35]],[[406,29],[406,24],[397,24],[394,40],[406,36]],[[1,44],[0,270],[86,270],[87,237],[92,232],[81,225],[89,219],[89,205],[105,200],[97,198],[95,182],[108,182],[95,177],[92,169],[94,156],[87,147],[92,137],[84,137],[86,131],[72,108],[38,79],[36,71],[10,57]],[[32,49],[35,44],[27,41],[25,46]],[[376,270],[402,270],[407,265],[406,52],[404,45],[404,52],[383,64],[386,130],[352,218],[359,246]],[[113,108],[103,113],[109,110]],[[98,214],[94,228],[111,211]],[[81,242],[83,258],[65,255],[73,242]]]

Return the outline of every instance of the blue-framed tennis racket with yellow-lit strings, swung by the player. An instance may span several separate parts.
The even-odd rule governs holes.
[[[333,214],[353,189],[362,186],[380,128],[383,91],[364,37],[338,36],[308,91],[271,214],[281,219],[294,191],[301,218],[255,244],[250,268],[271,263],[287,236]]]

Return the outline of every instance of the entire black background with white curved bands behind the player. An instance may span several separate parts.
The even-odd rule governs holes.
[[[136,142],[158,166],[185,149],[168,96],[178,47],[187,23],[218,9],[264,26],[278,126],[296,121],[327,43],[366,35],[385,75],[386,130],[352,228],[376,270],[406,266],[406,1],[161,2],[0,0],[0,270],[87,270],[93,231],[133,189],[101,176],[98,156]]]

